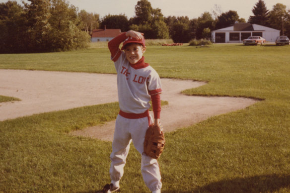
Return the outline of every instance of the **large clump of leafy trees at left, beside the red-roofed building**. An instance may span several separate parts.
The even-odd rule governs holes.
[[[84,48],[89,35],[78,27],[66,0],[28,0],[0,4],[0,52],[46,52]]]

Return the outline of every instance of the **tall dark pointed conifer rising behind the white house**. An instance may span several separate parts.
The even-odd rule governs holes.
[[[250,16],[248,22],[252,24],[259,24],[269,26],[269,10],[263,0],[259,0],[256,6],[252,9],[254,15]]]

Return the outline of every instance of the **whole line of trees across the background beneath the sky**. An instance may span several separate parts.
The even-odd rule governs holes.
[[[135,16],[99,14],[78,11],[66,0],[28,0],[18,4],[9,0],[0,3],[0,53],[66,51],[86,48],[92,30],[96,28],[129,29],[145,33],[146,39],[167,39],[186,43],[191,39],[211,37],[211,31],[230,26],[236,21],[246,22],[233,10],[221,12],[216,5],[213,13],[200,17],[164,17],[161,9],[152,8],[148,0],[139,0]],[[258,0],[248,22],[281,30],[290,36],[290,10],[277,3],[269,11],[263,0]]]

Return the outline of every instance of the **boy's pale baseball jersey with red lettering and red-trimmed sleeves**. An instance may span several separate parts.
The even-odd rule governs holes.
[[[120,110],[143,113],[150,107],[150,95],[162,93],[159,75],[149,64],[144,63],[144,57],[137,64],[131,65],[126,54],[121,50],[118,52],[121,52],[119,58],[116,60],[111,57],[111,60],[115,61],[117,71]]]

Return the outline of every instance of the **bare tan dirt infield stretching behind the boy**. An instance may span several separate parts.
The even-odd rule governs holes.
[[[165,132],[186,127],[211,116],[254,104],[257,100],[238,97],[196,97],[181,91],[206,83],[161,79],[161,122]],[[72,72],[0,70],[0,95],[21,101],[0,103],[0,121],[35,113],[65,110],[86,105],[118,101],[117,76]],[[114,121],[72,132],[102,140],[113,139]]]

